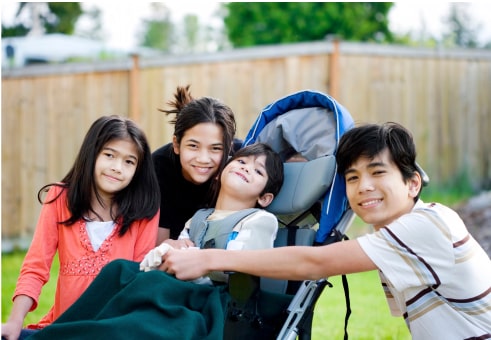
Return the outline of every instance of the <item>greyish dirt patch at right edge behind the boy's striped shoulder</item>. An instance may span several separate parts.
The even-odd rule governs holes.
[[[491,191],[483,192],[454,209],[491,257]]]

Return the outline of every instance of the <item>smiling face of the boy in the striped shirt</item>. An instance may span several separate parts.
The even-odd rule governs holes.
[[[404,183],[387,149],[374,159],[360,157],[347,169],[345,180],[351,208],[376,230],[410,212],[421,186],[416,175]]]

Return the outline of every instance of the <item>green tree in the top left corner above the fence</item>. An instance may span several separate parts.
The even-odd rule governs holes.
[[[23,12],[29,12],[29,23],[21,22]],[[30,32],[73,34],[78,17],[83,13],[79,2],[20,2],[16,24],[2,24],[2,38],[25,36]]]

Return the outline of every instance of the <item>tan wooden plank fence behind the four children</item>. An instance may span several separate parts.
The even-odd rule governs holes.
[[[37,191],[61,179],[99,116],[136,120],[152,149],[171,140],[157,109],[177,85],[236,113],[243,138],[261,109],[290,93],[332,95],[355,121],[397,121],[434,185],[491,186],[491,51],[314,42],[227,52],[2,70],[2,237],[29,238]]]

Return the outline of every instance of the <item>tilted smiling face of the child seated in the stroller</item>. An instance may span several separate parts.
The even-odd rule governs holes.
[[[239,196],[254,207],[268,182],[266,156],[239,157],[230,161],[222,172],[220,190]],[[259,202],[261,203],[261,202]]]

